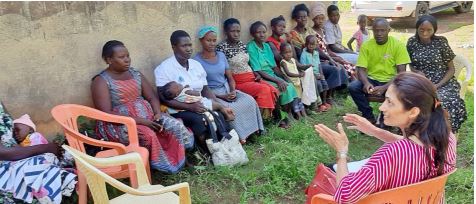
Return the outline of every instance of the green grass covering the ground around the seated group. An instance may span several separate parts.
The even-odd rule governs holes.
[[[356,113],[355,105],[346,94],[339,94],[338,106],[326,113],[312,115],[305,121],[295,122],[291,129],[268,126],[266,135],[245,145],[250,162],[237,167],[196,166],[176,175],[153,171],[153,182],[171,185],[188,182],[193,203],[303,203],[304,189],[314,176],[315,166],[334,161],[334,151],[312,129],[316,123],[334,127],[342,122],[345,113]],[[446,185],[448,203],[473,202],[473,93],[468,93],[466,105],[468,120],[459,133],[459,169],[450,176]],[[377,104],[372,104],[374,107]],[[369,157],[382,145],[379,140],[346,131],[349,155],[352,160]],[[108,187],[111,197],[120,195]],[[65,203],[72,203],[69,198]]]

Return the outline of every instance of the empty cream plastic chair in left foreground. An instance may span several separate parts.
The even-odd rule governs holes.
[[[141,156],[137,152],[122,154],[108,158],[91,157],[70,146],[62,146],[71,153],[76,161],[76,166],[88,181],[89,189],[96,204],[152,204],[152,203],[180,203],[190,204],[190,188],[187,182],[171,186],[151,185],[142,162]],[[134,164],[137,173],[138,187],[132,188],[122,182],[112,178],[98,169],[98,167],[118,166],[124,164]],[[109,200],[106,191],[106,183],[119,189],[125,194]],[[173,193],[178,192],[178,195]]]

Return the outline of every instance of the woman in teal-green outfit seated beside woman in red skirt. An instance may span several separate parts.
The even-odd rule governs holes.
[[[250,65],[253,71],[258,72],[264,80],[279,89],[279,104],[288,112],[288,115],[292,116],[291,105],[298,95],[294,85],[285,80],[284,74],[274,61],[273,51],[266,43],[266,29],[266,25],[261,21],[251,24],[250,34],[254,39],[246,45],[250,55]],[[286,120],[282,120],[280,127],[288,127],[286,123]]]

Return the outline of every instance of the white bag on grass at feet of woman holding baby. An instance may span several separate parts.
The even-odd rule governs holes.
[[[207,121],[210,129],[211,138],[207,139],[208,150],[212,154],[213,164],[216,166],[233,166],[236,164],[245,164],[248,162],[248,156],[239,142],[238,133],[235,129],[230,132],[223,131],[224,123],[214,112],[210,112],[215,118],[216,129],[211,125],[212,121]],[[206,120],[209,120],[205,117]],[[221,134],[221,140],[218,140],[216,130]]]

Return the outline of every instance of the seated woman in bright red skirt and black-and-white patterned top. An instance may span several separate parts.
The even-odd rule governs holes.
[[[240,40],[240,22],[229,18],[225,20],[223,29],[226,39],[217,45],[216,50],[225,54],[236,89],[251,95],[258,103],[263,118],[269,118],[276,106],[279,91],[261,80],[261,76],[253,72],[248,64],[250,58],[246,45]]]

